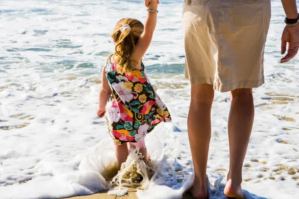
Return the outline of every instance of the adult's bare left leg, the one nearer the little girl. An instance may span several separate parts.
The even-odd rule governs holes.
[[[194,167],[194,183],[191,194],[196,199],[207,198],[206,167],[211,139],[213,99],[213,85],[191,85],[191,103],[187,125]]]

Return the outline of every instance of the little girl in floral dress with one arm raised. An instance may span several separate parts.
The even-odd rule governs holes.
[[[150,0],[145,25],[133,18],[121,19],[116,24],[111,35],[115,52],[103,67],[97,115],[103,117],[107,113],[119,167],[129,154],[127,142],[131,147],[138,147],[148,161],[147,133],[161,121],[171,121],[142,63],[155,29],[158,3],[158,0]]]

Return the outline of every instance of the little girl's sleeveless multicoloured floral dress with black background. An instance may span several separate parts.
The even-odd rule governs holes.
[[[146,69],[117,72],[109,57],[105,74],[112,90],[106,107],[109,134],[115,145],[140,142],[158,123],[170,122],[167,107],[153,90]]]

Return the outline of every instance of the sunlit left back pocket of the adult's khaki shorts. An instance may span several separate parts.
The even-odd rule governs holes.
[[[209,0],[184,0],[183,24],[186,26],[202,26],[206,19],[206,9]]]

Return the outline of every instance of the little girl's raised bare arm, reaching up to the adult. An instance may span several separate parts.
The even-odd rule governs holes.
[[[159,3],[158,0],[150,0],[148,8],[150,10],[156,11],[158,7],[158,3]],[[142,57],[148,50],[153,35],[153,31],[156,25],[156,21],[157,21],[157,14],[148,11],[146,22],[145,22],[145,29],[135,46],[134,53],[131,55],[132,60],[140,62]]]

